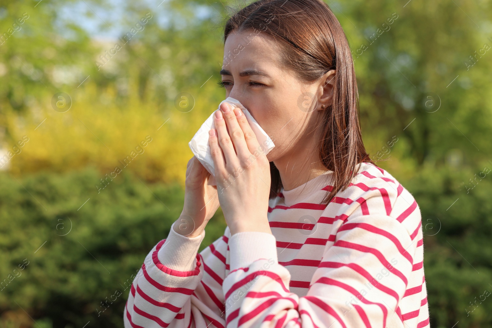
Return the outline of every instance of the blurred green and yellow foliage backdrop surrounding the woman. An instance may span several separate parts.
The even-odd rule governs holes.
[[[492,291],[491,1],[327,4],[351,45],[366,147],[422,210],[431,327],[492,326],[492,301],[477,302]],[[222,25],[244,5],[0,0],[0,149],[20,150],[0,175],[1,279],[30,261],[0,293],[1,327],[123,327],[127,291],[98,316],[100,302],[182,209],[187,143],[224,98]]]

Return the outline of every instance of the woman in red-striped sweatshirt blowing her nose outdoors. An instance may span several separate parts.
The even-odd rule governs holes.
[[[183,212],[135,277],[125,327],[428,327],[420,209],[364,148],[334,14],[321,0],[260,0],[224,40],[220,84],[276,146],[265,155],[221,105],[217,185],[192,157]],[[197,254],[219,204],[224,235]]]

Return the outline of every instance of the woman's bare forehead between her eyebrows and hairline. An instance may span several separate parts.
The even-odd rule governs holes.
[[[276,70],[280,64],[279,51],[275,39],[261,30],[232,31],[224,44],[223,68]]]

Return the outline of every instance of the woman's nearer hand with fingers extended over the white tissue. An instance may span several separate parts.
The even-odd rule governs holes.
[[[218,199],[231,235],[272,233],[268,223],[270,163],[240,108],[222,103],[210,130]],[[229,131],[227,131],[227,129]]]

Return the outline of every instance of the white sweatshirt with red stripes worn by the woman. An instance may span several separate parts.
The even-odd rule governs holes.
[[[125,328],[430,327],[413,196],[362,163],[319,204],[332,174],[270,199],[272,234],[226,228],[197,254],[205,232],[188,238],[171,227],[133,280]]]

